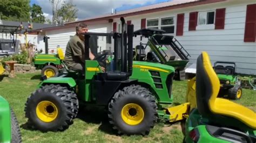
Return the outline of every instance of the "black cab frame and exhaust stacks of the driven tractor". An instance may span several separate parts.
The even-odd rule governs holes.
[[[133,25],[127,26],[124,18],[120,18],[122,22],[122,33],[85,33],[85,60],[89,59],[89,45],[91,35],[103,36],[103,37],[113,37],[114,40],[114,70],[106,71],[104,76],[107,78],[117,78],[122,80],[127,80],[132,75],[132,61],[133,61],[133,50],[132,50],[132,38],[133,38]],[[127,43],[128,41],[128,43]],[[128,53],[127,53],[128,52]],[[120,54],[120,55],[119,55]],[[117,69],[118,60],[120,57],[121,69]],[[99,75],[100,75],[99,74]]]

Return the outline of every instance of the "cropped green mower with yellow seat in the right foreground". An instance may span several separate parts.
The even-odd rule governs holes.
[[[186,120],[184,142],[256,142],[256,113],[218,98],[220,80],[206,52],[197,59],[196,96]],[[192,96],[191,96],[192,97]]]

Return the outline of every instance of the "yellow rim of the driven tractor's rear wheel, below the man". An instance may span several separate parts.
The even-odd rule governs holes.
[[[36,106],[36,115],[44,122],[53,121],[58,116],[57,106],[50,101],[42,101]]]

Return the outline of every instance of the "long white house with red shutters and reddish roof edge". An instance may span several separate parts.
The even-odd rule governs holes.
[[[87,23],[90,32],[112,32],[120,30],[120,17],[133,24],[134,30],[154,27],[174,35],[190,53],[190,64],[207,51],[212,62],[236,62],[238,73],[256,75],[256,1],[174,0],[78,22]],[[50,37],[49,49],[60,45],[65,50],[78,22],[42,28],[42,35]],[[133,39],[134,46],[139,40]],[[102,38],[98,45],[109,49],[105,41]]]

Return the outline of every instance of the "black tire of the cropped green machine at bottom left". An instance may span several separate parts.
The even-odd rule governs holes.
[[[11,142],[22,142],[21,130],[19,130],[18,120],[11,109]]]

